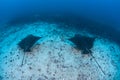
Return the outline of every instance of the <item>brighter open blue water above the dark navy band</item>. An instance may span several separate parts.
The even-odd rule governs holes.
[[[0,18],[38,10],[71,11],[102,23],[120,26],[119,0],[0,0]]]

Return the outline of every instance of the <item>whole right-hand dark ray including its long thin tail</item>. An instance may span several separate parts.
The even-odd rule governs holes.
[[[81,36],[79,34],[76,34],[73,38],[70,38],[69,40],[72,41],[76,45],[77,49],[82,50],[83,54],[90,54],[92,58],[94,59],[95,63],[98,65],[101,72],[105,75],[104,70],[102,69],[102,67],[100,66],[100,64],[98,63],[96,58],[93,56],[90,50],[93,47],[95,38]]]

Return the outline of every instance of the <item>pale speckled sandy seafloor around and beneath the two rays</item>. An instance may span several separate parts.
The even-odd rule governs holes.
[[[93,56],[83,55],[68,41],[74,34],[84,34],[75,29],[63,29],[57,24],[34,23],[6,32],[0,42],[0,76],[3,80],[120,80],[120,48],[106,40],[96,39]],[[29,34],[43,37],[26,53],[17,43]],[[89,33],[85,34],[93,36]]]

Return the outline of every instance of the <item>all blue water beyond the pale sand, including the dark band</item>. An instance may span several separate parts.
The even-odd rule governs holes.
[[[0,0],[1,42],[9,28],[37,21],[86,30],[120,46],[119,0]]]

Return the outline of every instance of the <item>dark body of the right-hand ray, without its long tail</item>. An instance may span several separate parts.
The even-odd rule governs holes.
[[[86,54],[89,53],[88,50],[93,47],[95,38],[75,34],[75,36],[69,40],[76,45],[77,49],[82,50],[82,53]]]

